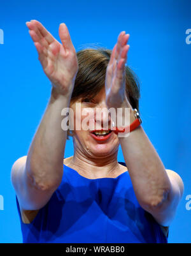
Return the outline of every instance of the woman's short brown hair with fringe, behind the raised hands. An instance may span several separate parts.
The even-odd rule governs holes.
[[[110,61],[111,50],[100,47],[98,49],[83,49],[77,52],[78,73],[74,83],[71,101],[78,98],[94,97],[103,89],[106,68]],[[125,66],[126,94],[133,109],[139,112],[139,82],[136,74]]]

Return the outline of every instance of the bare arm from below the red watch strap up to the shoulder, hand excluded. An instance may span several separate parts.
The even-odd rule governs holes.
[[[165,169],[141,126],[119,140],[139,204],[168,226],[183,195],[180,176]]]

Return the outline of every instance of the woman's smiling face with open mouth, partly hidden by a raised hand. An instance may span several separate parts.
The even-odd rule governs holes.
[[[106,94],[103,88],[93,98],[81,98],[77,102],[71,103],[70,107],[74,114],[74,151],[80,151],[92,158],[101,158],[117,153],[118,137],[113,131],[108,133],[111,128],[111,118],[107,112],[105,98]],[[80,130],[78,130],[79,127]],[[99,135],[102,128],[108,134]]]

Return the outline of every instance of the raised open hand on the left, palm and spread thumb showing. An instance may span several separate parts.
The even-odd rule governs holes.
[[[62,44],[38,20],[26,22],[26,25],[38,51],[38,59],[53,88],[59,94],[71,95],[78,72],[78,59],[66,24],[59,26]]]

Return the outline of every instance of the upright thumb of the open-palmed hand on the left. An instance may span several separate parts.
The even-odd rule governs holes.
[[[59,26],[59,36],[62,41],[62,45],[66,50],[74,50],[73,43],[71,41],[71,37],[69,35],[69,31],[67,29],[66,24],[62,23]]]

